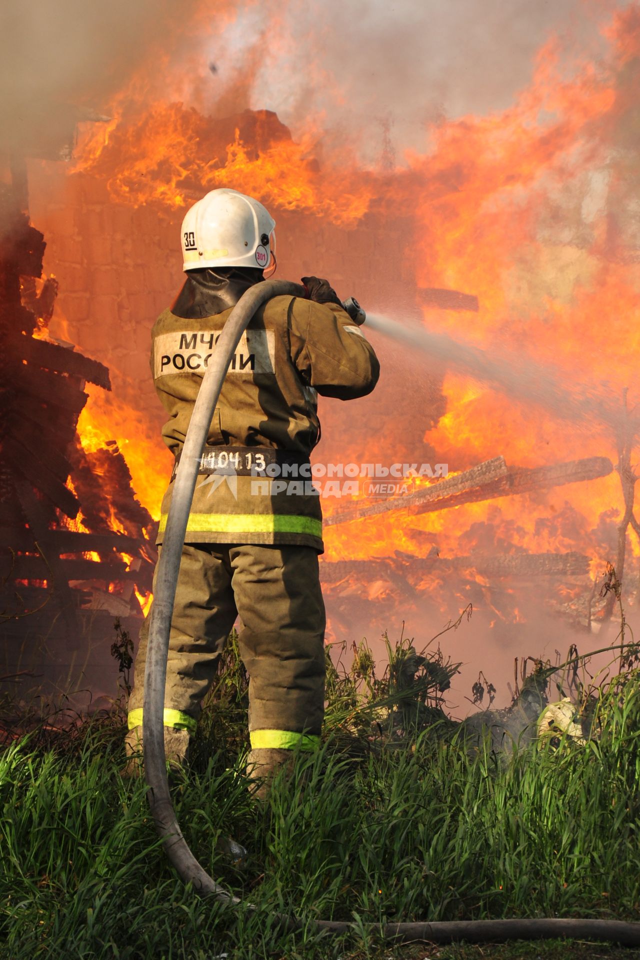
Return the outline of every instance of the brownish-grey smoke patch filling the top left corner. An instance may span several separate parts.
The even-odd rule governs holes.
[[[195,0],[3,4],[0,149],[55,156],[76,120],[100,113],[146,55],[159,58],[176,45],[179,24],[197,7]]]

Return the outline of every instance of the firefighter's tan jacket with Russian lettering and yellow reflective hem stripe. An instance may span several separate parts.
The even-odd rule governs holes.
[[[179,456],[201,378],[231,308],[185,320],[171,310],[152,332],[151,366],[169,415],[165,444]],[[320,496],[309,454],[320,439],[318,394],[366,396],[379,365],[341,306],[275,297],[236,349],[214,411],[187,524],[187,543],[322,545]],[[257,475],[256,475],[257,472]],[[162,500],[161,543],[172,484]]]

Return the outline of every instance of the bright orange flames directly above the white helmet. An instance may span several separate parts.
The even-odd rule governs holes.
[[[232,140],[217,143],[215,124],[195,109],[154,104],[133,127],[122,118],[103,130],[89,125],[73,172],[105,176],[115,200],[135,205],[159,201],[176,209],[205,190],[230,186],[280,209],[322,214],[343,226],[357,223],[373,195],[367,177],[355,169],[346,176],[344,168],[332,176],[320,172],[313,134],[295,143],[274,114],[257,116],[280,137],[262,149],[245,143],[237,128]]]

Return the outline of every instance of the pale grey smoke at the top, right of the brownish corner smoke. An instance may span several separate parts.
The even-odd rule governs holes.
[[[273,109],[295,136],[311,120],[332,147],[391,164],[423,150],[440,117],[509,107],[548,36],[567,51],[588,43],[595,58],[602,36],[588,13],[582,0],[278,0],[249,7],[211,49],[225,67],[257,43],[250,108]]]

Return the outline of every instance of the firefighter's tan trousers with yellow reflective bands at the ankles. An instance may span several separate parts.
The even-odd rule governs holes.
[[[324,711],[318,553],[292,545],[185,544],[169,641],[166,727],[194,732],[237,615],[252,749],[313,749]],[[129,729],[142,724],[151,611],[140,631]]]

